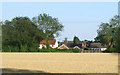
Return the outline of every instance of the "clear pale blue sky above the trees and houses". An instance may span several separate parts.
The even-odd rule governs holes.
[[[64,30],[57,40],[94,40],[101,22],[118,14],[117,2],[4,2],[2,3],[2,20],[28,16],[30,19],[47,13],[59,19]]]

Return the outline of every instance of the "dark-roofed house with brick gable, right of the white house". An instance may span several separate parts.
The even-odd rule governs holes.
[[[58,47],[58,49],[80,49],[82,47],[82,44],[75,44],[75,43],[72,43],[72,42],[68,42],[68,43],[64,43],[62,44],[60,47]]]

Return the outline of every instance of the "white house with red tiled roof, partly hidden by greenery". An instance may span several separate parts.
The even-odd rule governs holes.
[[[58,41],[56,40],[48,40],[49,42],[49,45],[51,48],[57,48],[58,47]],[[39,48],[42,49],[42,48],[46,48],[46,40],[42,40],[40,42],[40,45],[39,45]]]

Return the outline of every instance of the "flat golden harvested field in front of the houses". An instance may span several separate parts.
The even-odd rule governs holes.
[[[2,67],[48,73],[118,73],[114,53],[0,53]]]

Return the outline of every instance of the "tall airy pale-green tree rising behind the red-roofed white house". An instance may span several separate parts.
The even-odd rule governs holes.
[[[63,30],[63,25],[57,18],[53,18],[48,14],[40,14],[37,17],[33,17],[32,21],[39,29],[45,34],[45,40],[54,39],[59,36],[59,32]]]

